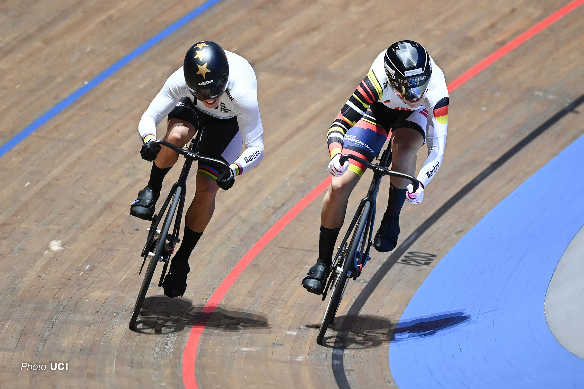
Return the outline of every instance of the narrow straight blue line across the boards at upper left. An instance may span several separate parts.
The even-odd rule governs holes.
[[[128,64],[128,62],[138,57],[138,55],[144,53],[149,48],[157,44],[159,41],[165,39],[167,36],[178,30],[180,27],[186,25],[186,23],[190,22],[191,20],[199,16],[204,11],[207,11],[207,9],[211,8],[213,5],[217,4],[220,1],[221,0],[208,0],[204,2],[197,8],[193,9],[193,11],[187,13],[185,16],[183,16],[179,20],[176,20],[176,22],[172,23],[172,25],[166,27],[164,30],[153,36],[151,39],[142,43],[138,48],[135,48],[134,51],[131,51],[129,54],[127,54],[126,57],[121,58],[121,60],[117,61],[115,64],[113,64],[105,71],[97,75],[87,84],[77,89],[77,91],[71,93],[71,95],[67,96],[67,98],[61,100],[61,102],[59,102],[53,108],[51,108],[46,113],[41,115],[39,119],[34,120],[24,130],[20,131],[20,133],[16,134],[15,137],[13,137],[11,140],[2,145],[0,147],[0,157],[6,154],[6,152],[12,150],[12,148],[15,147],[18,143],[20,143],[20,141],[22,141],[24,138],[32,134],[34,130],[42,126],[44,123],[47,123],[47,121],[53,119],[55,115],[57,115],[62,110],[67,108],[69,105],[74,103],[77,99],[81,98],[81,96],[85,95],[85,93],[91,91],[91,89],[98,86],[107,77],[110,77],[110,75],[114,74],[115,72],[123,68],[125,65]]]

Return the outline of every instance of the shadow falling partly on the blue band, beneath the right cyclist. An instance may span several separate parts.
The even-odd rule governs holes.
[[[335,349],[375,348],[383,343],[432,336],[445,329],[456,327],[469,319],[470,315],[465,315],[464,311],[443,312],[401,321],[396,326],[390,320],[378,316],[340,316],[335,319],[333,325],[329,326],[337,331],[337,334],[326,337],[323,345]],[[307,327],[318,327],[318,325]],[[350,329],[347,331],[349,327]]]

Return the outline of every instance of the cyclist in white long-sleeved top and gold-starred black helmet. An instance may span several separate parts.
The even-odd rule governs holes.
[[[140,190],[130,208],[133,216],[150,220],[160,196],[162,180],[178,160],[178,153],[156,140],[156,126],[168,115],[162,139],[178,147],[204,128],[200,154],[230,164],[230,174],[199,164],[193,202],[185,217],[185,234],[164,279],[164,294],[182,296],[190,272],[189,256],[213,216],[215,194],[229,189],[234,177],[263,157],[263,127],[258,108],[255,72],[245,58],[223,50],[212,41],[194,44],[183,67],[169,77],[138,124],[144,144],[140,154],[153,161],[148,185]],[[245,150],[241,152],[242,144]]]

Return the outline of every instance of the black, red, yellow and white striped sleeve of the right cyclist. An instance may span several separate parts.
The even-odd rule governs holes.
[[[331,158],[343,150],[343,137],[349,128],[353,127],[357,121],[369,109],[371,103],[378,102],[383,96],[383,88],[373,70],[369,70],[367,76],[360,82],[349,100],[335,117],[331,127],[326,134],[326,144],[328,144]]]

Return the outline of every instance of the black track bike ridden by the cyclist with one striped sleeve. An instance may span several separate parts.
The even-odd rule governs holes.
[[[326,329],[328,329],[329,325],[333,323],[335,319],[340,299],[346,288],[347,279],[352,278],[353,280],[357,280],[357,277],[359,277],[363,271],[363,267],[370,259],[369,251],[373,245],[371,237],[373,236],[377,192],[379,191],[381,178],[383,178],[384,175],[388,175],[409,179],[412,181],[413,192],[418,190],[419,183],[415,177],[388,169],[388,166],[391,164],[391,157],[391,148],[388,147],[381,155],[381,158],[378,159],[380,164],[372,164],[363,158],[350,154],[345,154],[339,159],[339,164],[341,166],[345,165],[345,162],[349,158],[367,166],[373,171],[373,180],[371,180],[371,185],[369,186],[367,195],[361,200],[359,207],[357,207],[355,216],[349,224],[349,228],[338,248],[335,259],[332,261],[331,275],[329,276],[326,287],[322,292],[322,301],[325,300],[329,291],[331,298],[326,306],[321,327],[318,331],[317,343],[319,345],[322,345]]]

